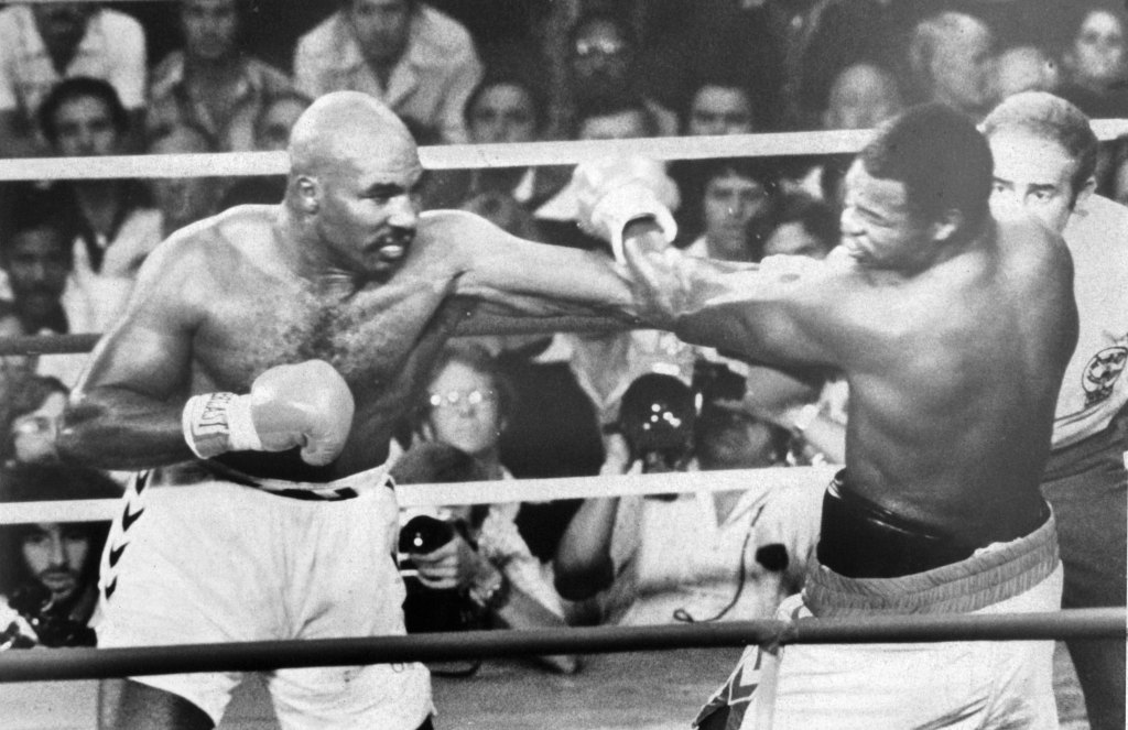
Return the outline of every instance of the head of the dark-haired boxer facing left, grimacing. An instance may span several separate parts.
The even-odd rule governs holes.
[[[846,174],[841,245],[864,266],[926,269],[989,217],[992,157],[971,121],[940,104],[879,129]]]

